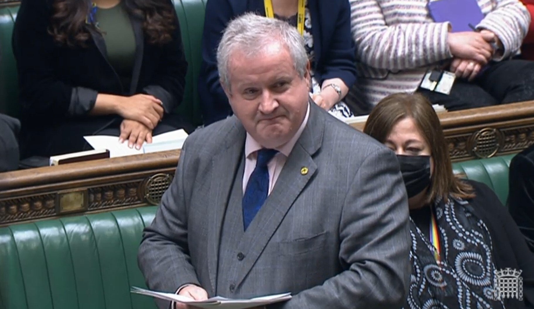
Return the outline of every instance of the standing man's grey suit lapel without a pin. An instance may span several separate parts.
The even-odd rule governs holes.
[[[209,218],[208,228],[208,273],[213,292],[216,291],[217,266],[219,260],[219,244],[221,243],[221,230],[223,226],[224,214],[232,190],[232,184],[237,173],[241,157],[244,153],[245,146],[245,129],[237,118],[234,120],[233,127],[225,137],[225,147],[213,156],[211,160],[211,171],[209,192],[213,196],[214,215],[207,215]],[[224,132],[224,130],[223,130]],[[226,175],[229,175],[227,177]]]

